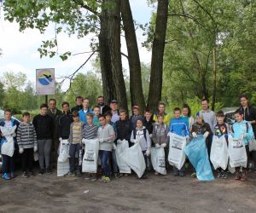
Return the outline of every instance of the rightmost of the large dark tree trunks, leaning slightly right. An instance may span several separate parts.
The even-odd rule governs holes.
[[[156,110],[161,99],[168,2],[168,0],[159,0],[157,6],[147,106],[152,110]]]

